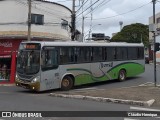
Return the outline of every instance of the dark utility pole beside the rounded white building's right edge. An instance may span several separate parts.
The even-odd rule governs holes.
[[[73,5],[72,5],[72,28],[71,28],[71,39],[72,41],[75,40],[75,30],[76,30],[76,14],[75,14],[75,0],[73,0]]]

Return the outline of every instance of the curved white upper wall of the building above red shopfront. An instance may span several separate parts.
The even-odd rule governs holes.
[[[69,39],[70,28],[62,28],[62,19],[71,23],[71,11],[60,4],[47,1],[32,1],[32,13],[44,15],[44,25],[32,24],[32,37],[50,39]],[[0,36],[27,36],[28,4],[27,0],[0,1]]]

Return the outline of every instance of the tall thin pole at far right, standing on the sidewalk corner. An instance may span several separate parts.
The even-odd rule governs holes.
[[[156,4],[156,0],[152,0],[153,2],[153,24],[155,24],[155,4]],[[155,49],[155,43],[156,43],[156,39],[155,39],[155,31],[153,32],[153,62],[154,62],[154,84],[155,87],[157,86],[157,71],[156,71],[156,49]]]

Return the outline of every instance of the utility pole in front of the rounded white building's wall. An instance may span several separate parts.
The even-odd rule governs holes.
[[[28,41],[31,41],[31,0],[28,0]]]

